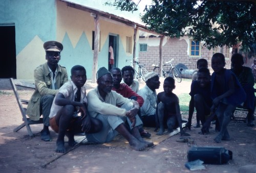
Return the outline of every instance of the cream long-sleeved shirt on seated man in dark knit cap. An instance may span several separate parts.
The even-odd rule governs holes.
[[[103,100],[99,94],[98,87],[88,92],[87,98],[88,111],[92,117],[96,117],[98,114],[126,116],[127,111],[125,109],[118,108],[117,106],[122,106],[123,104],[129,103],[133,105],[133,102],[135,102],[123,97],[116,91],[106,93],[105,100]]]

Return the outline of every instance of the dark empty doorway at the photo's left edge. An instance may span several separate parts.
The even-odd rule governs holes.
[[[16,79],[16,46],[15,26],[1,26],[1,57],[0,57],[0,78]]]

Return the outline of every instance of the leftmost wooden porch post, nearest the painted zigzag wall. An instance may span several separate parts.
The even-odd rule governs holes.
[[[99,54],[99,16],[94,17],[94,53],[93,53],[93,70],[92,70],[92,83],[96,83],[96,72],[98,69],[98,54]]]

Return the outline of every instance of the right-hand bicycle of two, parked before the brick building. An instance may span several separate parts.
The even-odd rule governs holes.
[[[174,59],[171,59],[169,61],[164,62],[164,64],[162,65],[162,70],[163,70],[163,76],[164,78],[167,76],[173,77],[177,82],[181,82],[182,78],[181,78],[181,73],[178,69],[176,69],[173,64],[172,61]],[[157,72],[160,75],[160,67],[159,65],[155,65],[152,64],[152,66],[154,67],[154,71]],[[165,66],[170,66],[169,70],[166,70],[164,67]]]

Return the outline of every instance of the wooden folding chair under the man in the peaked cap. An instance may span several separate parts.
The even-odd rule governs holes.
[[[35,85],[27,83],[27,82],[24,82],[24,81],[20,81],[20,80],[14,80],[12,78],[10,78],[10,83],[11,83],[14,95],[16,97],[16,101],[18,103],[18,107],[19,107],[20,113],[22,113],[22,119],[24,121],[21,125],[19,125],[17,128],[15,128],[13,130],[13,132],[17,132],[20,129],[22,129],[23,127],[26,126],[29,136],[33,136],[33,133],[32,133],[31,128],[30,128],[30,125],[35,125],[35,124],[43,123],[42,122],[42,118],[40,118],[37,121],[33,121],[33,120],[31,120],[30,118],[28,118],[26,116],[27,108],[23,107],[23,105],[28,105],[29,101],[28,100],[22,100],[22,99],[19,98],[19,94],[18,94],[18,91],[17,91],[17,86],[21,87],[23,89],[35,89]]]

